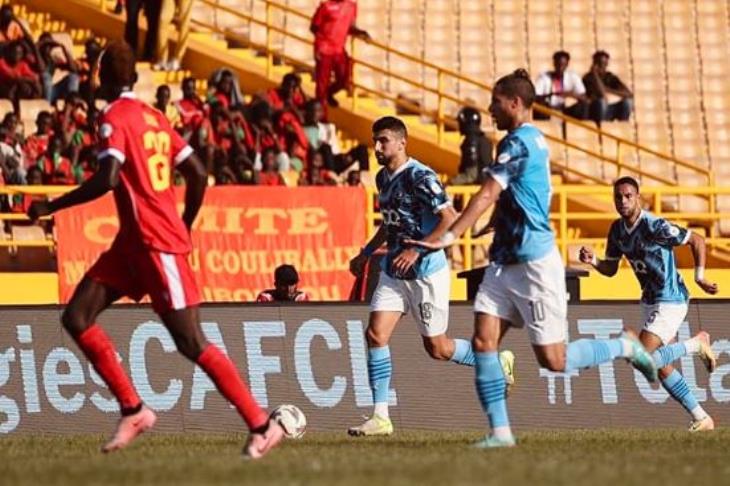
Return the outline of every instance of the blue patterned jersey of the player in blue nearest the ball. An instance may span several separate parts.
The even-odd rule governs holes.
[[[381,263],[383,271],[393,278],[412,280],[444,268],[447,261],[443,250],[428,252],[417,248],[421,256],[408,274],[396,275],[393,271],[393,259],[406,248],[403,240],[428,236],[441,220],[438,213],[451,204],[436,173],[410,158],[393,174],[381,169],[375,184],[388,236],[388,255]]]

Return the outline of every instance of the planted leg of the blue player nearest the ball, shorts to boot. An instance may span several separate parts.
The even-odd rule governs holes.
[[[363,424],[351,427],[352,436],[390,435],[393,423],[388,410],[388,394],[393,364],[390,359],[390,337],[401,316],[408,310],[404,283],[381,273],[370,301],[370,318],[365,338],[368,344],[368,376],[373,392],[373,414]]]

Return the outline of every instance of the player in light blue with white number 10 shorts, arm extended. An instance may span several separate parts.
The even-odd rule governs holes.
[[[444,248],[496,203],[491,264],[474,301],[476,388],[491,426],[491,433],[476,444],[480,448],[515,445],[497,356],[508,326],[527,328],[537,361],[551,371],[588,368],[622,357],[650,381],[656,380],[651,355],[629,336],[566,342],[565,268],[549,222],[549,153],[540,131],[528,123],[534,99],[534,86],[523,69],[497,81],[489,111],[497,128],[508,132],[499,143],[497,163],[461,216],[435,243],[408,241]]]

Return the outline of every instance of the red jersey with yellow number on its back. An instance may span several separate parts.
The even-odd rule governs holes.
[[[104,110],[99,134],[99,159],[111,156],[122,163],[114,189],[119,215],[114,245],[129,252],[189,252],[190,235],[178,214],[172,181],[174,166],[193,149],[164,114],[131,91]]]

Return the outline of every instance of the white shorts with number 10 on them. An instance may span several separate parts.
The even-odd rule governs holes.
[[[557,247],[539,260],[489,265],[474,299],[474,312],[497,316],[515,327],[527,324],[532,344],[565,342],[565,267]]]

